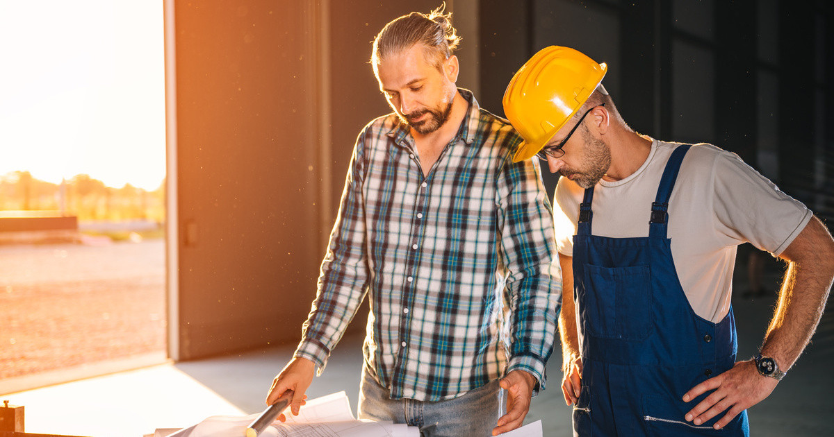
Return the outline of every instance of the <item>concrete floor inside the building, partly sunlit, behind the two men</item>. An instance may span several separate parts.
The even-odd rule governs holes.
[[[776,275],[774,273],[773,275]],[[775,277],[775,276],[774,276]],[[738,287],[736,287],[738,288]],[[734,300],[739,357],[754,355],[775,295]],[[355,412],[362,365],[361,338],[345,336],[310,397],[344,390]],[[31,433],[138,437],[156,428],[193,425],[210,415],[263,410],[264,397],[294,346],[187,363],[156,365],[114,375],[4,395],[25,405]],[[568,436],[570,408],[560,392],[559,351],[548,365],[548,389],[537,396],[526,422],[542,420],[546,436]],[[773,394],[749,411],[752,435],[834,435],[834,315],[827,311],[812,344]]]

